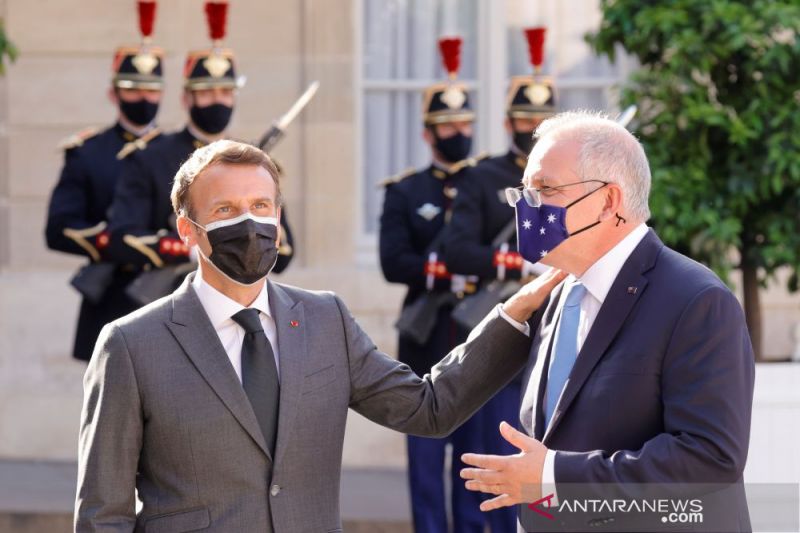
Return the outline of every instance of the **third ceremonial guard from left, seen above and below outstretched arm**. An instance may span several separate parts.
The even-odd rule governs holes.
[[[441,39],[439,47],[450,79],[428,87],[423,95],[423,137],[431,147],[432,162],[425,169],[407,171],[384,182],[380,219],[383,274],[387,281],[408,286],[398,321],[399,359],[420,376],[465,339],[465,332],[450,319],[453,290],[465,290],[464,279],[457,278],[460,286],[453,286],[440,247],[462,171],[474,164],[466,158],[475,114],[464,85],[456,81],[461,39]],[[417,533],[447,531],[444,475],[448,443],[453,447],[453,526],[459,533],[483,531],[481,498],[467,491],[459,478],[461,454],[476,449],[479,442],[471,421],[445,439],[408,436],[411,507]]]

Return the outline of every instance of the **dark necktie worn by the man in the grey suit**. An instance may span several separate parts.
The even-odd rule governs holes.
[[[245,331],[242,344],[242,386],[274,458],[280,402],[280,383],[275,354],[261,326],[258,309],[242,309],[231,318]]]

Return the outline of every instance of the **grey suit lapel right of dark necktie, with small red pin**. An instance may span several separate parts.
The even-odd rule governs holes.
[[[278,332],[278,358],[281,375],[281,405],[278,415],[278,438],[275,445],[276,463],[289,446],[294,419],[303,388],[303,363],[306,354],[305,311],[302,302],[295,302],[283,288],[267,283],[270,311]]]

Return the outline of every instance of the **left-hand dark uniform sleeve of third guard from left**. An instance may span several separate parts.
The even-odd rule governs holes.
[[[396,186],[386,188],[380,220],[381,269],[386,281],[423,287],[428,258],[414,249],[407,202]]]

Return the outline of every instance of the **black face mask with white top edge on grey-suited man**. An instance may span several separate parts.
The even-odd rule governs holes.
[[[239,285],[252,285],[264,279],[278,259],[278,220],[250,213],[212,222],[205,227],[211,245],[207,260],[223,275]],[[201,252],[202,253],[202,252]]]

